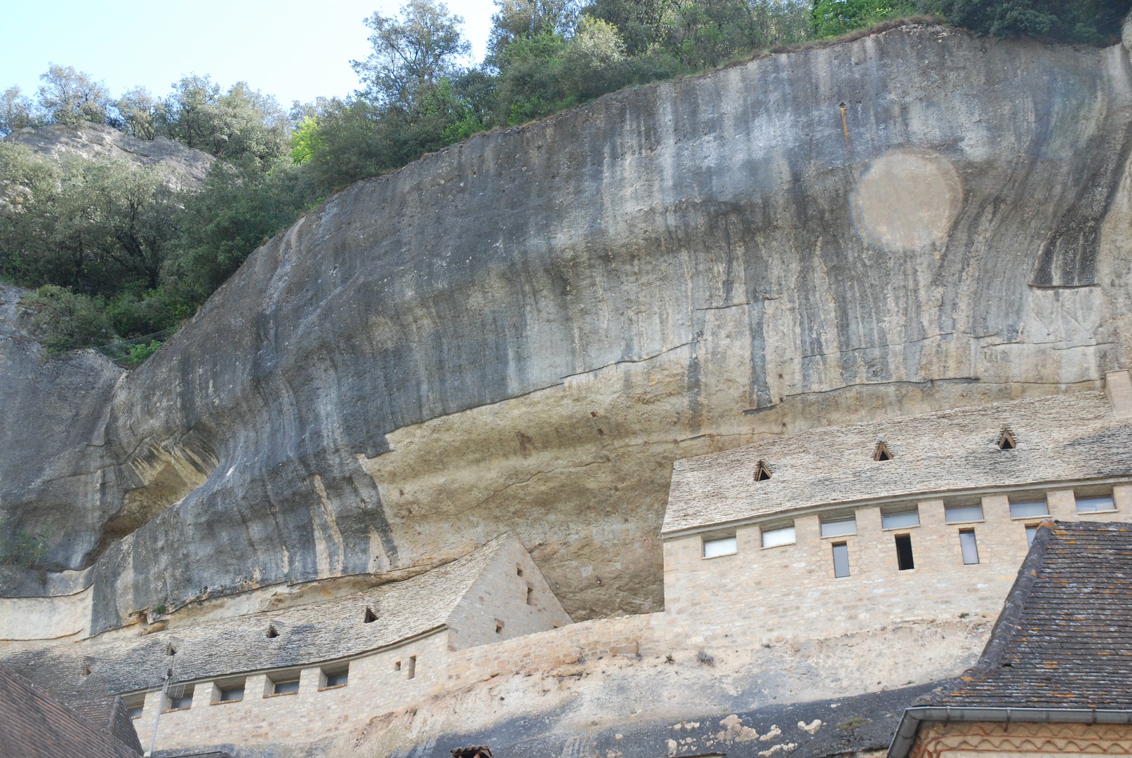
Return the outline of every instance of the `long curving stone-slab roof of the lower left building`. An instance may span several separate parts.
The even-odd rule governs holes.
[[[79,674],[82,661],[66,646],[24,651],[5,663],[50,682],[53,694],[71,703],[161,687],[170,667],[175,681],[191,681],[348,657],[444,626],[513,539],[496,537],[451,563],[346,597],[102,643],[87,675]],[[363,622],[367,608],[376,621]],[[274,637],[268,636],[272,628]]]

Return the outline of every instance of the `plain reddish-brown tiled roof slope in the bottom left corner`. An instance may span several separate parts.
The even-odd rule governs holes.
[[[132,731],[132,726],[130,727]],[[111,737],[0,664],[0,756],[137,758],[140,748]]]

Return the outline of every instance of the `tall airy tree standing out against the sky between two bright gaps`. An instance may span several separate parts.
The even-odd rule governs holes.
[[[461,72],[471,44],[460,34],[464,19],[443,2],[409,0],[400,16],[375,12],[366,19],[374,50],[365,61],[351,61],[365,89],[359,95],[380,107],[411,110],[441,78]]]

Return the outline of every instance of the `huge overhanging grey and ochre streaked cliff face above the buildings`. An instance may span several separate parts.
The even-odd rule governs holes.
[[[658,609],[672,459],[1130,363],[1130,121],[1122,46],[903,27],[474,138],[327,200],[117,385],[6,384],[75,422],[6,430],[0,505],[96,561],[95,630],[503,531],[575,619]]]

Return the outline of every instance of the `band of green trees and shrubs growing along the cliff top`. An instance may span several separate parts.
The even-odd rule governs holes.
[[[916,12],[980,34],[1105,44],[1132,0],[496,0],[486,59],[468,60],[462,19],[436,0],[375,12],[371,52],[348,98],[290,113],[238,83],[185,76],[170,93],[117,100],[52,63],[35,98],[0,94],[0,136],[48,123],[105,123],[218,158],[201,188],[158,169],[62,162],[0,143],[0,276],[41,287],[55,350],[139,337],[190,315],[243,259],[326,195],[494,127],[621,87],[838,36]],[[149,345],[147,342],[146,345]]]

